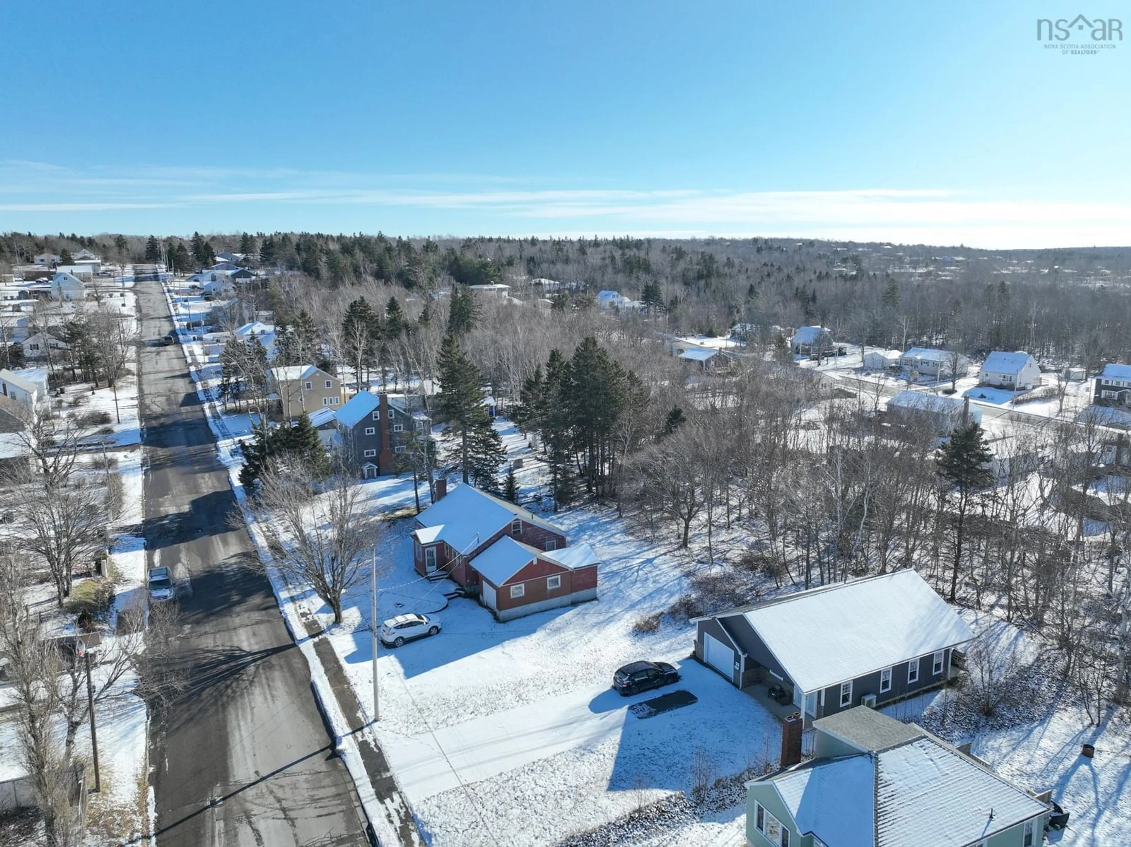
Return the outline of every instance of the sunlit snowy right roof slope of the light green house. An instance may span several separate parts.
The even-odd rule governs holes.
[[[1048,809],[930,737],[886,750],[878,760],[878,847],[905,844],[962,847]]]

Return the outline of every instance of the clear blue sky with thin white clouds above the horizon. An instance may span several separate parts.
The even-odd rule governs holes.
[[[1128,244],[1110,6],[14,3],[0,230]]]

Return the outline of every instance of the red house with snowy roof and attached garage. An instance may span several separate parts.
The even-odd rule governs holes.
[[[500,621],[597,598],[599,562],[588,544],[515,503],[470,485],[446,493],[416,516],[413,564],[448,576]]]

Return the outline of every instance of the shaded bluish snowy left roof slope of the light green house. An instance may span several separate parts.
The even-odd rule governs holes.
[[[802,833],[813,832],[830,847],[875,844],[871,757],[818,760],[782,775],[772,785]]]

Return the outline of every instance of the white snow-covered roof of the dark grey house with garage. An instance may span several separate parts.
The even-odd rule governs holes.
[[[914,570],[800,591],[740,614],[805,692],[974,638]]]

